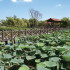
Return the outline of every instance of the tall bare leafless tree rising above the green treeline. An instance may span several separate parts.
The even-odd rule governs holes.
[[[35,23],[35,19],[38,21],[39,19],[42,18],[42,14],[39,11],[36,11],[34,9],[30,10],[30,16],[31,16],[31,19],[33,19],[33,27],[37,25]]]

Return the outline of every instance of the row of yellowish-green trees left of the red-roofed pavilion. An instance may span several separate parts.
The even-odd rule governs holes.
[[[20,28],[32,28],[35,26],[42,26],[43,22],[42,21],[38,21],[37,19],[32,19],[30,18],[29,20],[27,19],[20,19],[17,18],[17,16],[13,16],[13,17],[6,17],[6,20],[1,20],[2,22],[2,26],[7,26],[7,27],[18,27],[18,29]]]

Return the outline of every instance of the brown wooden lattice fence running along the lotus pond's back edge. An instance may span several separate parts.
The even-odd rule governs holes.
[[[20,37],[22,34],[28,35],[40,35],[42,33],[53,32],[55,30],[64,30],[65,28],[42,28],[42,29],[30,29],[30,30],[19,30],[19,31],[0,31],[0,41],[14,41],[15,37]]]

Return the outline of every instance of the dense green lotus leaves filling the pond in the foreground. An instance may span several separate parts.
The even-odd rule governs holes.
[[[70,31],[22,36],[0,43],[0,70],[70,70]]]

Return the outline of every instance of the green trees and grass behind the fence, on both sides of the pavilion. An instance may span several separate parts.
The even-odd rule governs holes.
[[[34,15],[33,15],[34,16]],[[35,28],[35,27],[40,27],[40,26],[47,26],[45,25],[46,20],[44,21],[39,21],[38,18],[30,18],[29,20],[27,19],[20,19],[17,18],[16,16],[13,17],[6,17],[6,20],[1,20],[1,27],[0,30],[19,30],[19,29],[24,29],[24,28]],[[69,27],[70,26],[70,19],[69,18],[62,18],[61,19],[61,25],[58,24],[57,26],[61,27]],[[56,24],[55,24],[56,25]],[[5,29],[4,29],[5,28]]]

